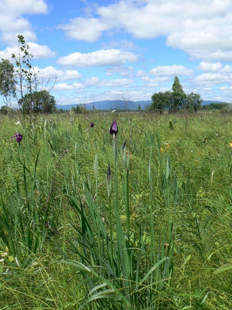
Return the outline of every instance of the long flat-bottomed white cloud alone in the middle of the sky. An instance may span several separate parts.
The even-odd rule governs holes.
[[[119,65],[128,62],[136,62],[139,55],[120,50],[100,50],[92,53],[81,54],[79,52],[59,57],[57,62],[62,65],[73,65],[80,68],[90,66]]]

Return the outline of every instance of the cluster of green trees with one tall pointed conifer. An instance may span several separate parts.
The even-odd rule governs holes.
[[[194,111],[196,114],[203,102],[200,98],[200,94],[193,92],[186,94],[177,76],[174,78],[172,91],[160,91],[154,93],[151,98],[153,102],[149,106],[149,110],[156,111],[160,114],[163,113],[164,109],[168,109],[169,113],[176,113],[180,108]]]

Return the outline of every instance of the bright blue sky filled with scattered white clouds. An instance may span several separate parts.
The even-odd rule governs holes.
[[[232,0],[0,0],[0,58],[13,62],[19,34],[61,105],[146,103],[175,75],[186,93],[232,102]]]

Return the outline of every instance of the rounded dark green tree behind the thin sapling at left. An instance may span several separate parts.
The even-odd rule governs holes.
[[[56,100],[49,91],[33,91],[23,96],[24,111],[26,114],[37,116],[38,113],[51,113],[56,108]],[[21,101],[19,101],[21,106]]]

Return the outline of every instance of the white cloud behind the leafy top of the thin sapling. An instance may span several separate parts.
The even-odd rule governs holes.
[[[38,45],[33,42],[29,42],[27,44],[29,45],[29,53],[33,55],[33,59],[35,60],[45,60],[49,57],[55,57],[56,55],[56,52],[51,51],[50,48],[47,46]],[[17,45],[13,47],[6,47],[5,50],[0,51],[0,57],[12,60],[11,58],[12,53],[15,53],[15,56],[17,58],[18,51],[19,46]]]

